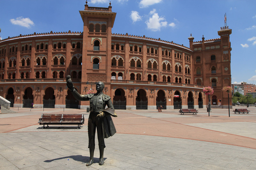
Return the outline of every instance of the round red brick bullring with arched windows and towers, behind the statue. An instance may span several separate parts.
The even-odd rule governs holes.
[[[81,108],[66,86],[71,75],[81,94],[105,83],[116,109],[202,108],[204,86],[212,86],[212,107],[228,105],[221,88],[231,85],[231,29],[220,38],[190,47],[144,36],[112,34],[116,13],[108,8],[79,11],[83,32],[34,33],[0,41],[0,95],[13,107]],[[230,100],[231,101],[231,100]],[[222,107],[222,106],[218,106]]]

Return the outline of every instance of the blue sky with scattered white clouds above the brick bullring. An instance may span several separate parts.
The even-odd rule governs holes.
[[[0,0],[1,39],[20,34],[82,32],[79,10],[86,0]],[[89,6],[108,7],[109,0],[88,0]],[[220,38],[218,31],[232,29],[232,84],[256,84],[255,0],[111,0],[116,20],[112,33],[128,33],[183,44]]]

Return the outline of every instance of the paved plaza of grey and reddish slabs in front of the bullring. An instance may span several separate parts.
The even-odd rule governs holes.
[[[0,169],[175,169],[255,170],[256,107],[250,114],[230,109],[198,109],[197,115],[178,110],[116,110],[117,133],[105,139],[105,164],[99,149],[94,164],[89,160],[87,121],[80,109],[12,108],[17,113],[0,115]],[[76,125],[51,125],[42,129],[41,114],[84,114]],[[96,136],[97,137],[97,136]],[[97,141],[97,139],[96,139]],[[98,143],[98,142],[96,142]]]

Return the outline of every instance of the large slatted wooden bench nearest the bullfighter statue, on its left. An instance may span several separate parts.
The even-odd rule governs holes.
[[[80,129],[81,125],[84,124],[84,115],[79,114],[42,114],[39,118],[38,123],[40,125],[77,125],[77,129]],[[45,128],[45,127],[44,127]]]

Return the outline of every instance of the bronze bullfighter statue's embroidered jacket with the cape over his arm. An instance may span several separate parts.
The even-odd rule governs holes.
[[[114,109],[114,105],[110,96],[103,94],[102,92],[97,94],[81,95],[76,90],[73,92],[74,97],[77,100],[88,101],[90,100],[90,114],[104,112],[105,116],[102,119],[103,137],[108,138],[116,133],[116,128],[111,116],[117,117]],[[105,109],[106,105],[108,108]]]

